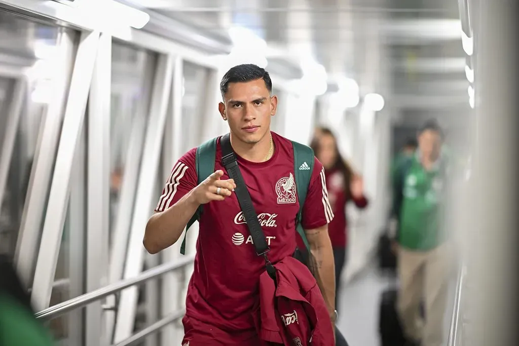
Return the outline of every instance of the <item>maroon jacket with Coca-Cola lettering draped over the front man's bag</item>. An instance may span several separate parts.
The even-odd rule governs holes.
[[[277,285],[260,276],[260,302],[254,320],[264,345],[330,346],[334,331],[315,278],[298,260],[285,257],[274,265]]]

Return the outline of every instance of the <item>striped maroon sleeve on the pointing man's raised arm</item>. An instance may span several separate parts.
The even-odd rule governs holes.
[[[189,150],[176,161],[160,195],[156,212],[163,212],[198,185],[196,173],[196,148]]]

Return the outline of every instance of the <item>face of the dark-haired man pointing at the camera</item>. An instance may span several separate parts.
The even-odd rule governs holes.
[[[278,99],[270,96],[263,79],[230,83],[224,102],[218,105],[227,118],[230,131],[241,142],[259,142],[270,130],[270,117],[276,114]]]

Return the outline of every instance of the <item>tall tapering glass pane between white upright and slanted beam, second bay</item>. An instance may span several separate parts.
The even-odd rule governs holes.
[[[128,153],[128,147],[135,134],[136,117],[148,116],[150,93],[157,56],[144,49],[132,47],[118,41],[112,44],[112,103],[111,103],[111,160],[110,160],[110,243],[118,212],[131,217],[131,211],[119,211],[119,196],[128,155],[138,155],[142,151]],[[153,66],[150,66],[153,65]],[[144,122],[145,124],[146,122]],[[145,128],[136,129],[144,134]],[[134,138],[134,137],[133,137]],[[142,146],[141,146],[142,148]],[[139,160],[138,160],[139,161]]]

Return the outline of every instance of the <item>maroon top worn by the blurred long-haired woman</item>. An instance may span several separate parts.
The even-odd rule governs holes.
[[[351,200],[359,209],[364,209],[368,201],[366,197],[362,196],[359,199],[351,197],[347,198],[344,175],[337,170],[325,170],[324,176],[326,178],[326,188],[328,190],[328,200],[332,206],[334,218],[328,224],[328,233],[332,246],[335,248],[345,248],[348,242],[348,220],[346,218],[346,204]],[[304,249],[305,244],[301,237],[297,237],[297,246]]]

